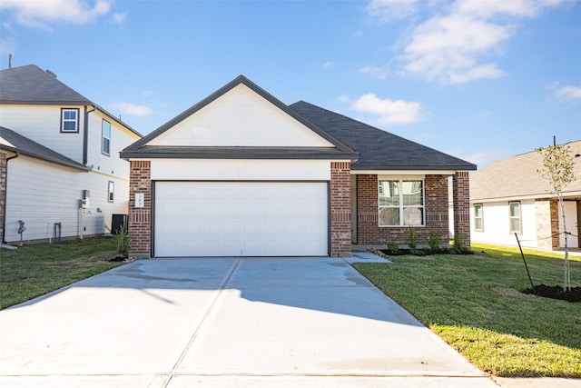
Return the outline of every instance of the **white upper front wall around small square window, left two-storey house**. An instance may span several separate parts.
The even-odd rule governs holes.
[[[61,133],[61,107],[79,109],[78,133]],[[0,125],[83,163],[84,106],[2,104]]]

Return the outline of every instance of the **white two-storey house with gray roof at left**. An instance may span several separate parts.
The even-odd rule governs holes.
[[[0,71],[0,234],[3,243],[106,234],[127,214],[129,163],[141,138],[35,65]]]

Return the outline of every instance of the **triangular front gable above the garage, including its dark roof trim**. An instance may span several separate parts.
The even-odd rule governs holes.
[[[357,158],[243,75],[127,147],[122,157]]]

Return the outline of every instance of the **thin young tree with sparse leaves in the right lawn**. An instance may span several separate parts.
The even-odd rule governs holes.
[[[567,247],[567,231],[565,224],[565,208],[563,206],[563,189],[575,181],[573,174],[573,157],[571,148],[564,144],[549,145],[537,149],[543,155],[543,168],[537,169],[538,174],[547,179],[550,184],[550,194],[556,194],[561,214],[563,214],[563,234],[565,236],[565,274],[563,289],[571,291],[571,275],[569,273],[569,251]]]

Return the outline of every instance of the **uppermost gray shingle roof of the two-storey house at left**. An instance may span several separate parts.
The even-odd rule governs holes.
[[[0,70],[0,102],[9,104],[93,104],[37,65]]]

